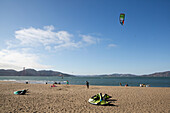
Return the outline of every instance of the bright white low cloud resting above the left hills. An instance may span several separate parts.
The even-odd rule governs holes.
[[[49,69],[52,67],[40,64],[39,58],[36,54],[3,49],[0,51],[0,68],[21,70],[22,67],[35,69]]]

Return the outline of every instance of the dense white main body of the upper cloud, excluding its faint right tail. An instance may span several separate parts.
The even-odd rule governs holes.
[[[15,32],[15,38],[22,46],[47,46],[50,44],[62,44],[69,41],[71,35],[66,31],[53,32],[51,27],[45,29],[21,29]]]

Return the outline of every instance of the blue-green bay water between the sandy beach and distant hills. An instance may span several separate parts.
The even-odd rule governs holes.
[[[90,85],[119,86],[128,84],[129,86],[139,86],[149,84],[150,87],[170,87],[170,77],[40,77],[40,76],[0,76],[1,81],[16,81],[19,83],[29,82],[31,84],[52,84],[54,82],[72,85],[85,85],[89,81]]]

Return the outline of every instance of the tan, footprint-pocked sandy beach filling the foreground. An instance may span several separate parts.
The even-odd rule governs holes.
[[[13,92],[29,89],[26,95]],[[88,103],[97,93],[112,96],[108,106]],[[170,113],[170,88],[0,82],[0,113]]]

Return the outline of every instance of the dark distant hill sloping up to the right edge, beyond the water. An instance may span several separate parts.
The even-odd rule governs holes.
[[[149,75],[142,75],[143,77],[170,77],[170,71],[157,72]]]

